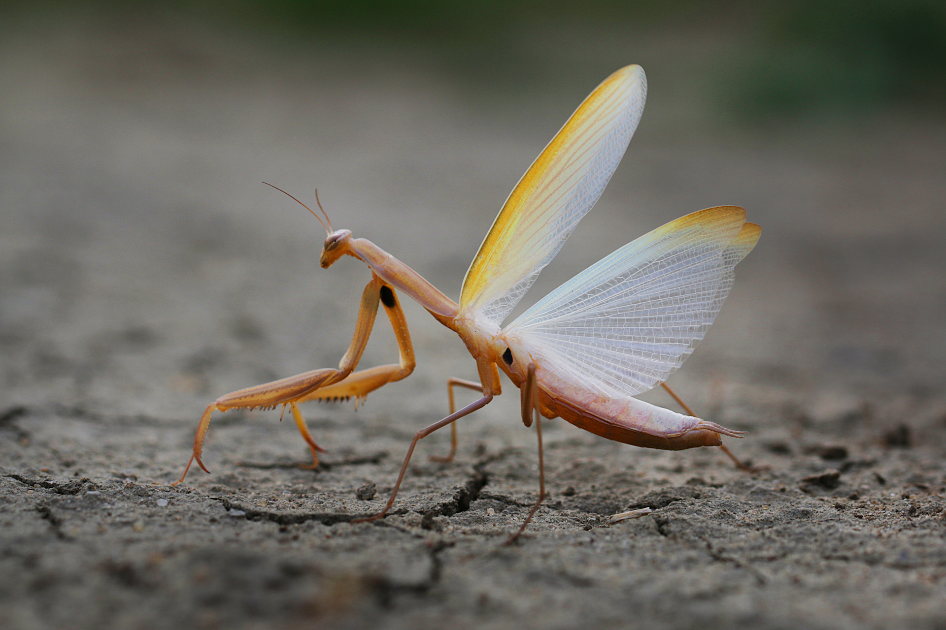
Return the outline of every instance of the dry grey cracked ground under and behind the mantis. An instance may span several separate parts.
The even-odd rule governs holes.
[[[691,140],[705,99],[672,88],[706,62],[674,75],[697,48],[648,37],[588,46],[600,76],[479,100],[412,60],[159,21],[0,37],[0,628],[946,627],[946,130]],[[745,206],[762,241],[671,383],[766,470],[552,420],[550,498],[502,547],[537,489],[506,383],[455,462],[429,461],[431,435],[391,516],[353,523],[446,415],[446,378],[476,374],[403,299],[412,376],[357,413],[304,406],[322,468],[298,468],[278,411],[230,412],[212,474],[168,485],[208,402],[335,366],[351,339],[367,272],[319,269],[314,219],[259,180],[319,186],[337,227],[456,297],[525,165],[631,61],[653,94],[638,134],[526,301],[676,216]],[[362,366],[396,356],[382,315]]]

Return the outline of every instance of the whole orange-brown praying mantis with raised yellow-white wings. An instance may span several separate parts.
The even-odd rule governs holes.
[[[383,517],[394,505],[418,440],[452,425],[451,450],[445,459],[452,458],[453,423],[499,396],[499,369],[520,389],[522,421],[527,427],[535,422],[539,440],[538,501],[513,538],[525,529],[546,494],[542,417],[563,417],[608,439],[670,451],[723,446],[721,435],[741,437],[743,432],[694,417],[685,405],[686,416],[634,397],[663,384],[719,313],[732,287],[733,268],[755,247],[761,233],[759,226],[746,223],[742,208],[709,208],[652,230],[592,264],[502,327],[601,196],[638,126],[646,92],[643,70],[630,65],[587,96],[506,200],[466,272],[459,304],[374,243],[353,237],[349,230],[332,230],[325,215],[322,266],[347,255],[372,272],[361,295],[351,346],[337,369],[315,369],[241,389],[210,404],[201,417],[187,469],[196,460],[207,471],[201,447],[215,409],[277,405],[284,409],[289,405],[312,452],[312,466],[318,466],[317,451],[322,449],[308,433],[299,403],[358,400],[407,377],[414,368],[411,336],[395,289],[460,335],[476,360],[480,382],[448,381],[449,416],[414,435],[391,498],[370,519]],[[400,361],[354,371],[378,302],[394,327]],[[482,398],[455,411],[455,385],[479,391]],[[187,469],[177,484],[184,481]]]

